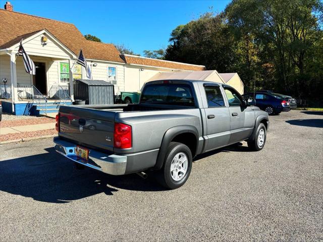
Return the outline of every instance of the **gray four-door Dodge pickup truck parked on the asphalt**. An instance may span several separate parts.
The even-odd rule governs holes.
[[[263,148],[268,114],[248,101],[220,83],[148,82],[138,104],[61,106],[55,150],[108,174],[152,171],[176,189],[198,154],[244,140],[251,150]]]

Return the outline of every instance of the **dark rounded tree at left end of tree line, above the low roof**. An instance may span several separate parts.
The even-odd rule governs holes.
[[[172,31],[165,58],[169,61],[204,65],[219,72],[231,71],[235,62],[234,36],[224,14],[206,13]]]

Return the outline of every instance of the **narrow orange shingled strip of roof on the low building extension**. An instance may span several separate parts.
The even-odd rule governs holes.
[[[162,67],[176,70],[186,71],[204,71],[204,66],[185,64],[179,62],[164,61],[162,59],[146,58],[136,55],[122,54],[121,57],[127,64],[140,65],[140,66],[151,66],[151,67]]]

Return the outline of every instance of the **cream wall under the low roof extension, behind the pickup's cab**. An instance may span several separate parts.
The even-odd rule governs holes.
[[[143,69],[143,71],[140,71]],[[178,70],[174,70],[178,71]],[[170,69],[163,68],[148,68],[140,66],[130,66],[125,67],[125,91],[127,92],[137,92],[140,91],[143,84],[148,81],[151,77],[159,72],[172,72]]]

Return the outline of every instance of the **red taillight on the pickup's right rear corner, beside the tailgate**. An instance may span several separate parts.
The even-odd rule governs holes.
[[[131,148],[132,146],[132,131],[130,125],[115,124],[114,147],[120,149]]]

